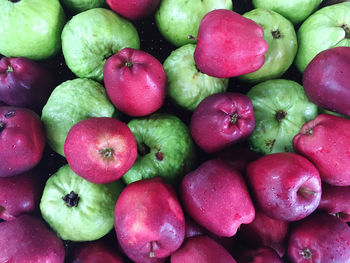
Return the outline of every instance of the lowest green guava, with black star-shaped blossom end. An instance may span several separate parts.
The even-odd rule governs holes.
[[[123,187],[120,180],[90,183],[66,164],[46,182],[41,215],[63,240],[97,240],[114,226],[114,206]]]

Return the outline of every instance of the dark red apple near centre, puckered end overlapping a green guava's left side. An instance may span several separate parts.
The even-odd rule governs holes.
[[[254,130],[250,98],[240,93],[217,93],[206,97],[194,110],[190,131],[204,151],[212,153],[246,139]]]

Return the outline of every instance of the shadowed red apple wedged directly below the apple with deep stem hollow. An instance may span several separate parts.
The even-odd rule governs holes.
[[[271,247],[282,257],[285,253],[288,231],[289,223],[287,221],[273,219],[256,210],[254,221],[242,225],[239,234],[249,246],[254,248]]]

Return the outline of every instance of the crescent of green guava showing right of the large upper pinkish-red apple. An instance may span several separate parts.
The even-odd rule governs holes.
[[[264,65],[255,72],[242,75],[239,79],[258,83],[281,77],[292,65],[298,49],[293,24],[280,14],[257,8],[243,14],[264,29],[264,39],[269,45]]]

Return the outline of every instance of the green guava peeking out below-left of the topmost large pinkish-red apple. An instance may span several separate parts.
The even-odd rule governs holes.
[[[168,77],[168,98],[177,106],[193,111],[207,96],[227,90],[228,79],[200,72],[193,59],[194,44],[186,44],[173,52],[163,63]]]

